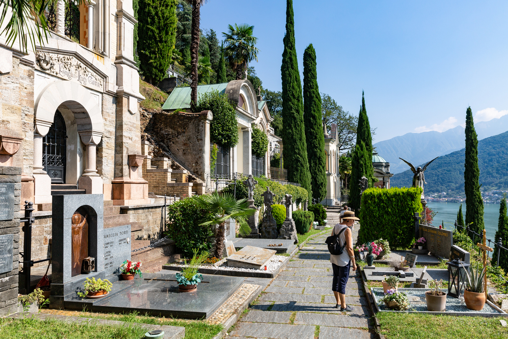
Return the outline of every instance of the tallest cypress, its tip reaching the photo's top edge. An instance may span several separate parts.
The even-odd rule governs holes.
[[[286,34],[282,52],[282,141],[284,167],[288,170],[288,180],[298,182],[312,198],[310,187],[307,142],[303,124],[303,98],[300,72],[295,46],[295,20],[293,0],[287,0]]]

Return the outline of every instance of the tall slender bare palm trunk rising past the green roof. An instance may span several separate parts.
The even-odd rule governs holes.
[[[199,38],[201,30],[199,29],[200,9],[207,0],[186,0],[192,6],[192,21],[190,22],[190,108],[196,112],[198,103],[198,64],[199,64]]]

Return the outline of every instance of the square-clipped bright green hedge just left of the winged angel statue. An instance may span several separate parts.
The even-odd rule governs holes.
[[[408,248],[415,237],[415,212],[421,213],[421,188],[365,190],[360,209],[359,244],[383,238],[392,248]]]

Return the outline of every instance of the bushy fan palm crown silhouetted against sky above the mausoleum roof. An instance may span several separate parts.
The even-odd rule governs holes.
[[[226,47],[226,55],[231,67],[236,70],[236,80],[241,80],[248,63],[252,60],[258,61],[259,49],[256,48],[258,38],[253,37],[254,26],[242,23],[235,26],[228,25],[228,33],[223,32]]]

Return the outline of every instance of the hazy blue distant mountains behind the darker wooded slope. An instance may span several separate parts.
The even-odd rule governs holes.
[[[478,140],[508,131],[508,115],[490,121],[477,122],[474,128]],[[373,145],[379,156],[390,163],[391,173],[400,173],[409,167],[402,158],[413,165],[422,164],[438,156],[447,155],[465,147],[464,128],[457,126],[444,132],[406,133]]]

